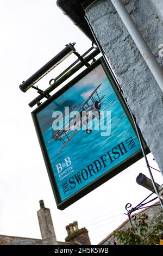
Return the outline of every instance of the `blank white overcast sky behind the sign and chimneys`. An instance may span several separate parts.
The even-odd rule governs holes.
[[[18,88],[67,43],[76,42],[81,54],[91,47],[55,2],[1,1],[0,234],[41,238],[36,211],[43,199],[51,209],[58,241],[66,237],[65,226],[77,220],[97,244],[126,220],[127,203],[135,206],[148,196],[149,191],[136,184],[136,176],[149,174],[142,159],[64,211],[57,209],[28,106],[37,93]],[[66,59],[37,85],[48,87],[48,81],[74,60],[75,56]],[[152,155],[148,159],[157,168]],[[162,184],[161,173],[153,175]]]

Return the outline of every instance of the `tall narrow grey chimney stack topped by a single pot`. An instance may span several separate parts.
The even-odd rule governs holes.
[[[45,208],[43,200],[40,200],[40,210],[37,211],[43,245],[57,245],[51,212]]]

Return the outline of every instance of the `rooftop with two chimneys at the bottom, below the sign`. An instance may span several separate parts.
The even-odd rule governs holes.
[[[67,237],[65,242],[57,241],[51,211],[45,208],[43,200],[40,200],[40,210],[37,211],[42,239],[0,235],[0,245],[90,245],[90,239],[86,228],[79,229],[78,222],[66,226]]]

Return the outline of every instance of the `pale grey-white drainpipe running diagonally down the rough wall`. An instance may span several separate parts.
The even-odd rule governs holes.
[[[124,7],[121,0],[111,0],[114,5],[118,15],[124,23],[124,26],[127,28],[131,38],[133,38],[137,48],[142,54],[143,59],[148,65],[148,68],[151,70],[156,82],[158,83],[161,91],[163,92],[163,71],[153,56],[152,51],[149,49],[146,41],[143,39],[139,29],[136,27],[134,21],[131,19],[127,9]]]

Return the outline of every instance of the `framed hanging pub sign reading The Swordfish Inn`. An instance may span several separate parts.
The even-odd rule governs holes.
[[[103,58],[32,116],[58,209],[142,157],[128,108]]]

